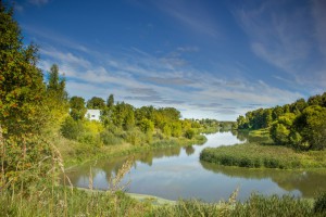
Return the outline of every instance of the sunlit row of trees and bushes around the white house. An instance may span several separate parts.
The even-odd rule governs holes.
[[[192,139],[201,128],[214,127],[217,124],[216,120],[211,119],[180,119],[180,112],[174,107],[136,108],[125,102],[115,103],[113,94],[110,94],[106,101],[93,97],[87,102],[80,97],[72,97],[70,107],[70,116],[61,128],[62,135],[68,139],[84,141],[85,135],[89,138],[89,131],[95,131],[92,139],[86,141],[92,143],[90,141],[92,140],[99,145],[118,144],[123,141],[133,144],[151,143],[153,138],[156,140],[171,137]],[[85,127],[90,125],[85,117],[87,108],[101,111],[101,122],[91,124],[97,130]]]

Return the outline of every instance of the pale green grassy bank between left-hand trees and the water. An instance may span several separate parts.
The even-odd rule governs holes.
[[[55,145],[59,149],[65,167],[82,164],[87,161],[123,156],[133,153],[143,152],[153,149],[164,149],[168,146],[186,146],[191,144],[203,144],[206,138],[202,135],[197,135],[192,139],[170,138],[170,139],[155,139],[150,144],[134,145],[127,142],[114,145],[89,145],[73,140],[67,140],[61,136],[53,138]]]

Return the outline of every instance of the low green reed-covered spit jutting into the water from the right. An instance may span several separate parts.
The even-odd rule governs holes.
[[[266,168],[326,168],[326,151],[298,152],[286,146],[243,143],[206,148],[200,159],[225,166]]]

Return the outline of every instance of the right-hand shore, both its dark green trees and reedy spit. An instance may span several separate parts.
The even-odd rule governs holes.
[[[233,129],[258,139],[206,148],[200,159],[249,168],[326,168],[326,92],[308,101],[248,112]]]

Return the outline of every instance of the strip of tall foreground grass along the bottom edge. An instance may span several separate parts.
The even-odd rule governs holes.
[[[46,189],[30,195],[1,192],[3,216],[325,216],[326,194],[315,201],[291,196],[251,195],[246,202],[203,203],[179,200],[174,205],[139,202],[123,192]]]

